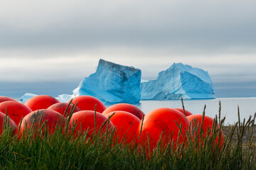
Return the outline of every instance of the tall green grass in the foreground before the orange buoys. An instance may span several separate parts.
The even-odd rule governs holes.
[[[219,111],[215,120],[225,132],[223,149],[213,146],[220,131],[216,128],[203,146],[187,133],[187,145],[176,149],[158,145],[151,156],[140,145],[113,146],[110,131],[92,140],[87,140],[87,133],[74,138],[60,129],[36,138],[30,132],[18,140],[6,128],[0,139],[0,169],[256,169],[255,117],[223,127],[225,118]]]

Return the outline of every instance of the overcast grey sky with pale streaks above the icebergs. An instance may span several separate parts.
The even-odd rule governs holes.
[[[155,79],[182,62],[208,71],[217,89],[256,94],[255,8],[255,0],[0,1],[0,81],[78,80],[100,58]]]

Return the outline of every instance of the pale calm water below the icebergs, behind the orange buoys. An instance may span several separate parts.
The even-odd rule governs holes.
[[[202,114],[206,105],[206,115],[214,118],[218,114],[219,101],[221,103],[221,117],[225,116],[225,125],[238,121],[238,106],[240,108],[240,118],[248,119],[256,112],[256,98],[215,98],[208,100],[186,100],[183,101],[185,109],[193,114]],[[137,105],[144,113],[155,108],[182,108],[181,101],[141,101]]]

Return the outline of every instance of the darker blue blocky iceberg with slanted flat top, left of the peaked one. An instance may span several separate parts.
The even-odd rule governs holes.
[[[138,103],[142,71],[100,59],[97,70],[85,77],[74,96],[90,95],[104,103]]]

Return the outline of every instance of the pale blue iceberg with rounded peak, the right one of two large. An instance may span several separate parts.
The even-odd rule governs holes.
[[[142,82],[141,100],[215,98],[208,72],[182,63],[174,63],[159,72],[156,80]]]

